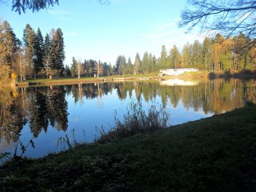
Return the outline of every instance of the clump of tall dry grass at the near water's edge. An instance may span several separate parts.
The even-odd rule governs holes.
[[[100,137],[96,139],[98,143],[120,140],[141,132],[150,132],[163,129],[168,124],[168,113],[166,109],[156,105],[151,105],[148,111],[143,110],[141,102],[131,104],[127,107],[127,113],[123,120],[116,118],[115,125],[110,131],[104,129],[100,131]]]

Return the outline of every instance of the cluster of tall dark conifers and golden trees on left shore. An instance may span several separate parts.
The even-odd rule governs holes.
[[[4,20],[0,24],[0,66],[5,77],[15,73],[21,81],[38,76],[65,76],[63,33],[60,28],[51,29],[42,36],[40,28],[36,31],[29,24],[23,31],[23,38],[16,37],[10,24]],[[0,76],[4,81],[4,76]]]

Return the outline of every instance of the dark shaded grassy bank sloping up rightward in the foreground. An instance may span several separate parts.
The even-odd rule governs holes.
[[[256,106],[0,168],[0,191],[255,191]],[[50,190],[50,191],[51,191]]]

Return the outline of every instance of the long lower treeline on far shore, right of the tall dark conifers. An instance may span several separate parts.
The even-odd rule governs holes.
[[[214,37],[205,37],[202,43],[198,40],[193,44],[187,43],[181,52],[176,45],[173,45],[169,52],[163,45],[159,58],[145,52],[141,60],[137,52],[132,63],[131,58],[126,60],[125,56],[118,56],[113,67],[106,62],[93,60],[77,65],[73,58],[72,76],[76,76],[77,66],[81,66],[82,74],[86,76],[93,73],[98,73],[98,76],[148,74],[159,72],[159,69],[163,68],[198,68],[208,72],[255,72],[256,47],[253,41],[243,33],[232,38],[224,38],[218,33]]]

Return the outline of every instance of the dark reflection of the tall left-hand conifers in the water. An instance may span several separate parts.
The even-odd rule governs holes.
[[[19,88],[19,94],[0,89],[0,141],[17,141],[22,127],[29,127],[36,138],[50,122],[58,130],[67,130],[67,101],[63,86]]]

